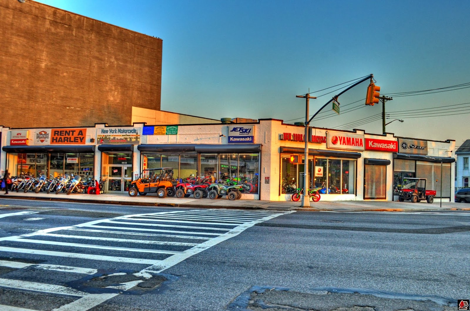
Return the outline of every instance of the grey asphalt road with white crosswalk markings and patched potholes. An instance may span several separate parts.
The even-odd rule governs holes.
[[[456,310],[469,230],[464,211],[0,200],[0,310]]]

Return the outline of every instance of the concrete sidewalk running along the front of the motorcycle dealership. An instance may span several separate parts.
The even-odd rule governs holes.
[[[97,204],[120,204],[140,206],[169,206],[188,208],[235,208],[235,209],[266,209],[266,210],[311,210],[311,211],[426,211],[426,210],[470,210],[470,204],[456,202],[442,202],[439,198],[434,203],[425,201],[419,203],[392,202],[392,201],[320,201],[310,202],[310,208],[300,207],[299,202],[292,201],[260,201],[260,200],[236,200],[230,201],[226,197],[217,200],[194,199],[176,197],[158,198],[155,194],[131,197],[128,194],[46,194],[33,192],[9,192],[8,195],[0,194],[3,199],[26,199],[62,202],[81,202]]]

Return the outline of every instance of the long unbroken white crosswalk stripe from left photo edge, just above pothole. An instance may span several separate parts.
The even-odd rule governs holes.
[[[159,260],[114,257],[114,256],[93,255],[93,254],[90,255],[90,254],[79,254],[79,253],[67,253],[67,252],[57,252],[57,251],[52,251],[52,250],[41,250],[41,249],[21,249],[21,248],[15,248],[15,247],[1,247],[0,251],[12,252],[12,253],[45,255],[45,256],[81,258],[81,259],[89,259],[89,260],[114,261],[114,262],[119,262],[119,263],[131,263],[131,264],[155,264],[159,262]]]

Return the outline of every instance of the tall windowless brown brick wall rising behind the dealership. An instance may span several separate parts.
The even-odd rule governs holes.
[[[162,40],[39,2],[0,0],[0,124],[131,124],[160,110]]]

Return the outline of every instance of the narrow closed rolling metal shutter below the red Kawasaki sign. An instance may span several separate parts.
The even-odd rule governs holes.
[[[387,198],[386,173],[386,165],[364,165],[364,199]]]

